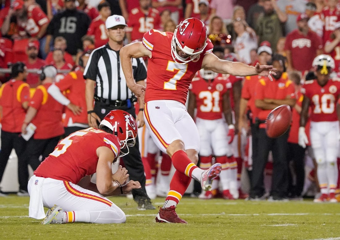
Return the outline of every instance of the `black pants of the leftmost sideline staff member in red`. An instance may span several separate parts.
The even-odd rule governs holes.
[[[21,133],[5,132],[1,130],[1,151],[0,151],[0,182],[2,180],[8,158],[14,148],[18,156],[18,179],[19,189],[27,191],[28,165],[23,160],[27,142],[20,136]]]

